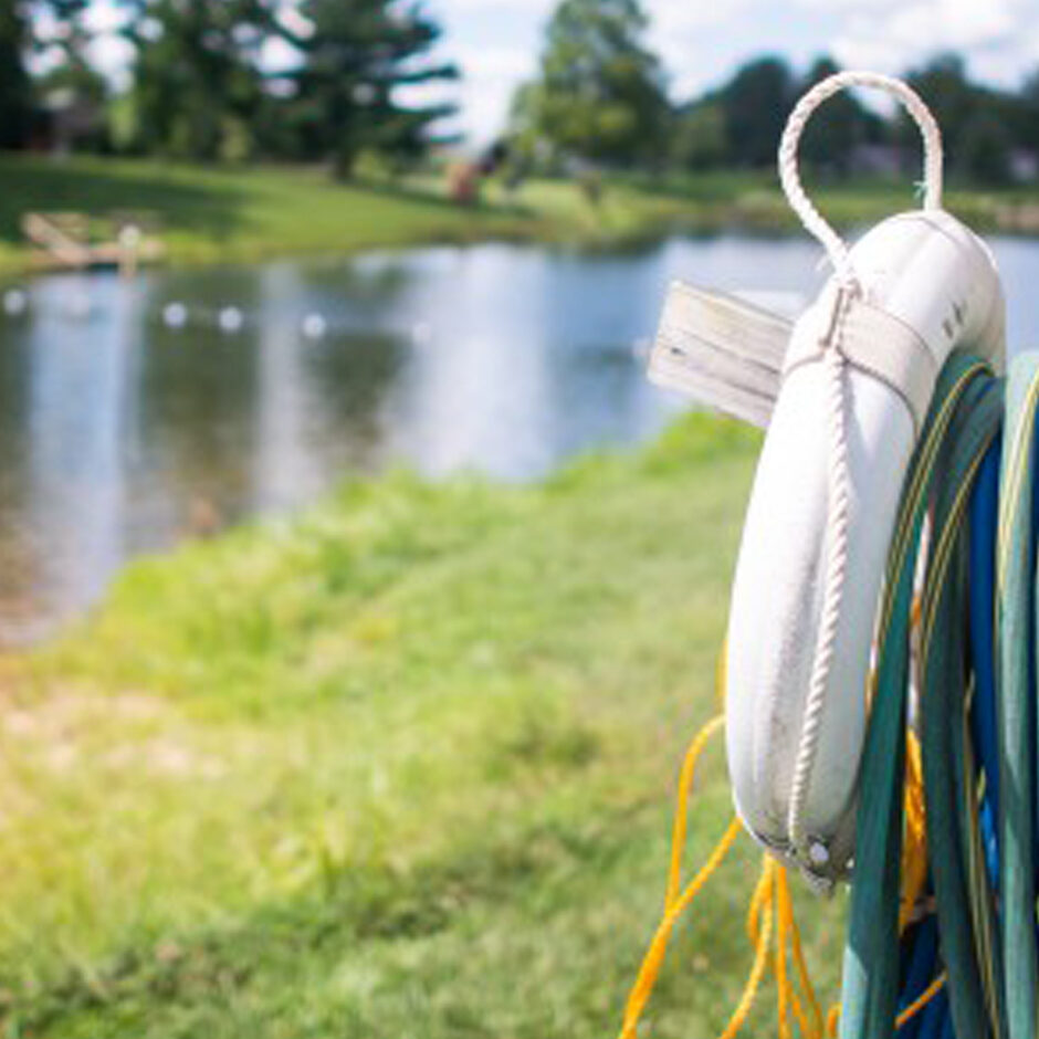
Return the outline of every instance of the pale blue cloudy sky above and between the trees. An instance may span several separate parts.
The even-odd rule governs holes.
[[[462,70],[449,96],[461,104],[459,122],[473,143],[503,127],[513,91],[537,67],[555,3],[427,0],[444,29],[441,55]],[[742,61],[766,52],[800,69],[826,53],[843,67],[900,73],[956,50],[974,77],[1009,87],[1039,70],[1039,0],[643,0],[643,7],[649,42],[676,99],[717,85]],[[102,31],[95,59],[118,78],[127,54],[108,32],[117,19],[112,0],[95,3]],[[269,55],[272,64],[284,59],[276,49]]]

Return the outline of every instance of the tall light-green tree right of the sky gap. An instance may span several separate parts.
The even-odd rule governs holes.
[[[555,151],[615,166],[659,161],[671,109],[647,25],[638,0],[563,0],[556,9],[541,75],[520,105]]]

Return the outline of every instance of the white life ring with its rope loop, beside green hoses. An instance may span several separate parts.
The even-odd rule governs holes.
[[[801,189],[808,117],[848,86],[894,94],[921,127],[924,208],[848,250]],[[985,243],[941,208],[942,146],[903,83],[841,73],[795,108],[784,188],[836,273],[795,325],[732,594],[726,732],[751,833],[821,885],[848,872],[867,680],[902,483],[935,379],[961,346],[1003,364],[1005,304]]]

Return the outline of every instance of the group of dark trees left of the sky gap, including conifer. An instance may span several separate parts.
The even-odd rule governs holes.
[[[116,0],[129,85],[92,65],[91,0],[0,0],[0,147],[46,146],[204,161],[329,161],[348,175],[372,149],[416,158],[447,104],[401,86],[451,81],[421,2]],[[291,60],[272,71],[277,43]],[[33,66],[42,72],[31,72]]]

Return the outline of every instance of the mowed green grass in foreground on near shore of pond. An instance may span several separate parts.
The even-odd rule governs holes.
[[[613,1033],[757,447],[691,416],[539,486],[348,484],[134,565],[7,661],[0,1035]],[[724,772],[716,746],[693,863]],[[744,839],[696,904],[648,1035],[727,1020],[757,863]],[[801,910],[832,995],[841,906]]]

